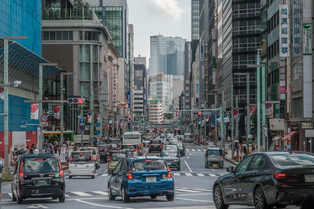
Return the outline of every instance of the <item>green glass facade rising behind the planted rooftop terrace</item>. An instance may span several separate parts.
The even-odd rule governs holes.
[[[107,27],[116,50],[122,55],[122,7],[90,7],[100,23]]]

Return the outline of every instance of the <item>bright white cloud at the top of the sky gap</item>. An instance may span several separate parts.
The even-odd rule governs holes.
[[[178,21],[185,10],[178,6],[176,0],[146,0],[148,13],[155,17],[161,17],[168,21]]]

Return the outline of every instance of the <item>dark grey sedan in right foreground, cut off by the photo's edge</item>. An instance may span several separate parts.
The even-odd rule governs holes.
[[[229,205],[300,206],[314,192],[314,156],[308,153],[253,153],[244,158],[229,174],[220,176],[213,185],[217,209]]]

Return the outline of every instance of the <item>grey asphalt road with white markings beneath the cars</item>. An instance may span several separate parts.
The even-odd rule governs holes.
[[[212,198],[212,186],[214,181],[226,174],[225,169],[207,169],[204,164],[204,150],[206,147],[190,143],[184,143],[186,155],[181,157],[181,171],[173,170],[175,181],[175,199],[167,201],[165,197],[136,197],[131,198],[129,203],[123,203],[121,197],[115,201],[109,201],[107,193],[107,163],[101,163],[100,169],[96,170],[95,179],[90,177],[73,177],[68,179],[65,172],[66,201],[59,203],[58,200],[49,199],[26,199],[23,205],[17,205],[11,199],[11,184],[3,182],[1,205],[8,209],[16,208],[214,208]],[[149,153],[144,147],[145,156],[153,156],[158,152]],[[224,162],[225,167],[230,166]],[[202,207],[203,206],[203,207]],[[230,206],[229,208],[253,208]]]

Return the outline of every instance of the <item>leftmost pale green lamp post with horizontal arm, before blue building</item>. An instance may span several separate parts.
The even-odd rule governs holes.
[[[4,83],[8,83],[9,39],[27,39],[27,36],[4,36]],[[4,173],[8,173],[9,164],[9,95],[8,86],[4,89]]]

